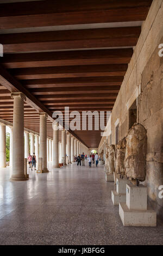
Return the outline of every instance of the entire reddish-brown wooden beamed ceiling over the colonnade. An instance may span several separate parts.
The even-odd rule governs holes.
[[[38,112],[47,112],[49,137],[55,110],[111,111],[152,0],[6,2],[0,118],[12,123],[17,91],[27,96],[24,126],[39,132]],[[101,140],[101,130],[71,132],[89,148]]]

